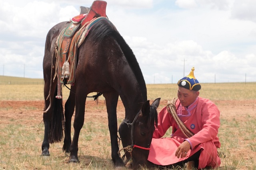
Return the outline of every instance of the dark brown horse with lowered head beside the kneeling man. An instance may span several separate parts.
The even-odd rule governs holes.
[[[66,101],[63,115],[62,99],[55,98],[58,80],[53,80],[53,75],[55,74],[54,66],[56,63],[54,45],[58,35],[66,25],[67,22],[58,23],[50,29],[46,37],[43,61],[45,82],[43,118],[45,130],[42,155],[50,155],[49,143],[61,141],[63,129],[65,129],[63,150],[70,152],[70,162],[79,161],[78,137],[84,123],[86,96],[91,92],[101,92],[106,100],[108,112],[112,160],[114,166],[124,166],[124,162],[118,154],[116,117],[118,97],[120,96],[125,107],[124,122],[126,123],[132,122],[142,108],[142,114],[137,117],[134,124],[132,137],[130,127],[126,123],[120,125],[119,131],[124,147],[132,145],[132,141],[141,148],[149,147],[154,121],[157,120],[156,112],[153,111],[154,109],[150,109],[153,107],[150,107],[149,102],[147,102],[146,84],[139,64],[132,50],[115,27],[109,21],[98,21],[78,49],[76,81],[74,86],[71,86],[70,96]],[[146,104],[144,104],[145,102]],[[158,106],[156,103],[159,103],[159,100],[154,102],[154,108]],[[142,107],[142,104],[145,106]],[[76,114],[74,118],[74,137],[71,143],[71,117],[74,108],[76,108]],[[64,123],[65,128],[63,128]],[[142,152],[145,152],[143,153],[145,156],[140,156]],[[134,148],[132,155],[126,154],[126,156],[128,158],[132,156],[134,162],[132,167],[136,168],[138,164],[146,164],[147,154],[148,150]]]

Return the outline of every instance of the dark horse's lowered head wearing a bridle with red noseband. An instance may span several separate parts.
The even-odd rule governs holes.
[[[127,165],[133,169],[145,166],[148,160],[155,124],[157,125],[156,109],[159,102],[160,98],[157,98],[152,105],[149,100],[146,101],[131,123],[123,121],[119,127],[119,134],[128,160]]]

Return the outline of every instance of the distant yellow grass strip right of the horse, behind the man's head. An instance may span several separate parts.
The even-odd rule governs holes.
[[[177,84],[147,84],[148,99],[170,100],[177,96]],[[200,96],[210,100],[255,100],[256,82],[203,83]]]

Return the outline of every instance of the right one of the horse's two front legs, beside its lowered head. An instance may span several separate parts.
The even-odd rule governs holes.
[[[111,140],[111,156],[114,162],[114,166],[124,166],[124,162],[120,158],[118,151],[118,136],[117,136],[117,117],[116,117],[116,106],[118,102],[117,92],[104,93],[103,96],[106,98],[106,106],[108,111],[108,129],[110,132]]]

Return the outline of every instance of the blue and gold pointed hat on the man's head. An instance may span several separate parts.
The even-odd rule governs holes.
[[[180,79],[178,81],[178,86],[189,89],[189,90],[194,90],[194,91],[198,91],[201,89],[201,85],[198,82],[198,80],[196,80],[195,76],[194,76],[194,70],[195,68],[192,67],[191,68],[191,72],[188,74],[188,76]]]

